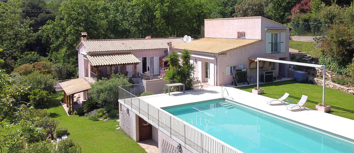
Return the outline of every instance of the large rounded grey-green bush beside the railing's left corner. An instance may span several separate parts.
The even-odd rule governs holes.
[[[123,74],[112,74],[109,79],[102,79],[94,83],[89,93],[90,96],[102,106],[114,109],[118,106],[117,93],[119,86],[130,84],[129,78],[125,77]]]

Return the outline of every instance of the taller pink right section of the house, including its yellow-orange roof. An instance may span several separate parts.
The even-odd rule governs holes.
[[[228,85],[234,69],[245,70],[249,81],[257,80],[255,57],[289,60],[291,27],[263,17],[205,19],[205,38],[172,46],[193,53],[194,77],[210,85]],[[286,64],[260,63],[260,73],[287,77]],[[252,75],[252,77],[251,77]],[[279,76],[279,77],[280,77]]]

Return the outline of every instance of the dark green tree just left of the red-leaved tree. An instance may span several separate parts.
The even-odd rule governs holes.
[[[268,7],[269,16],[272,20],[279,23],[289,22],[288,16],[291,15],[293,8],[299,0],[273,0]]]

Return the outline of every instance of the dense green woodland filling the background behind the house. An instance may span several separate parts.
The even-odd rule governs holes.
[[[52,74],[54,79],[69,79],[77,76],[75,47],[80,42],[80,32],[87,32],[88,39],[148,35],[201,38],[207,18],[263,16],[294,27],[292,33],[296,35],[326,35],[336,25],[353,23],[351,3],[352,0],[9,0],[0,3],[0,59],[4,61],[0,67],[7,73],[15,69],[21,74],[35,69],[33,63],[42,62],[41,65],[50,65],[53,73],[61,72]],[[353,30],[349,29],[352,28],[347,29],[349,38],[353,38]],[[346,51],[349,56],[342,65],[351,63],[353,58],[352,42],[349,46],[351,51]]]

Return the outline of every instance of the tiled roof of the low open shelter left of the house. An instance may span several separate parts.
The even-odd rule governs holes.
[[[91,89],[91,84],[84,78],[73,79],[59,83],[66,95],[73,95]]]

